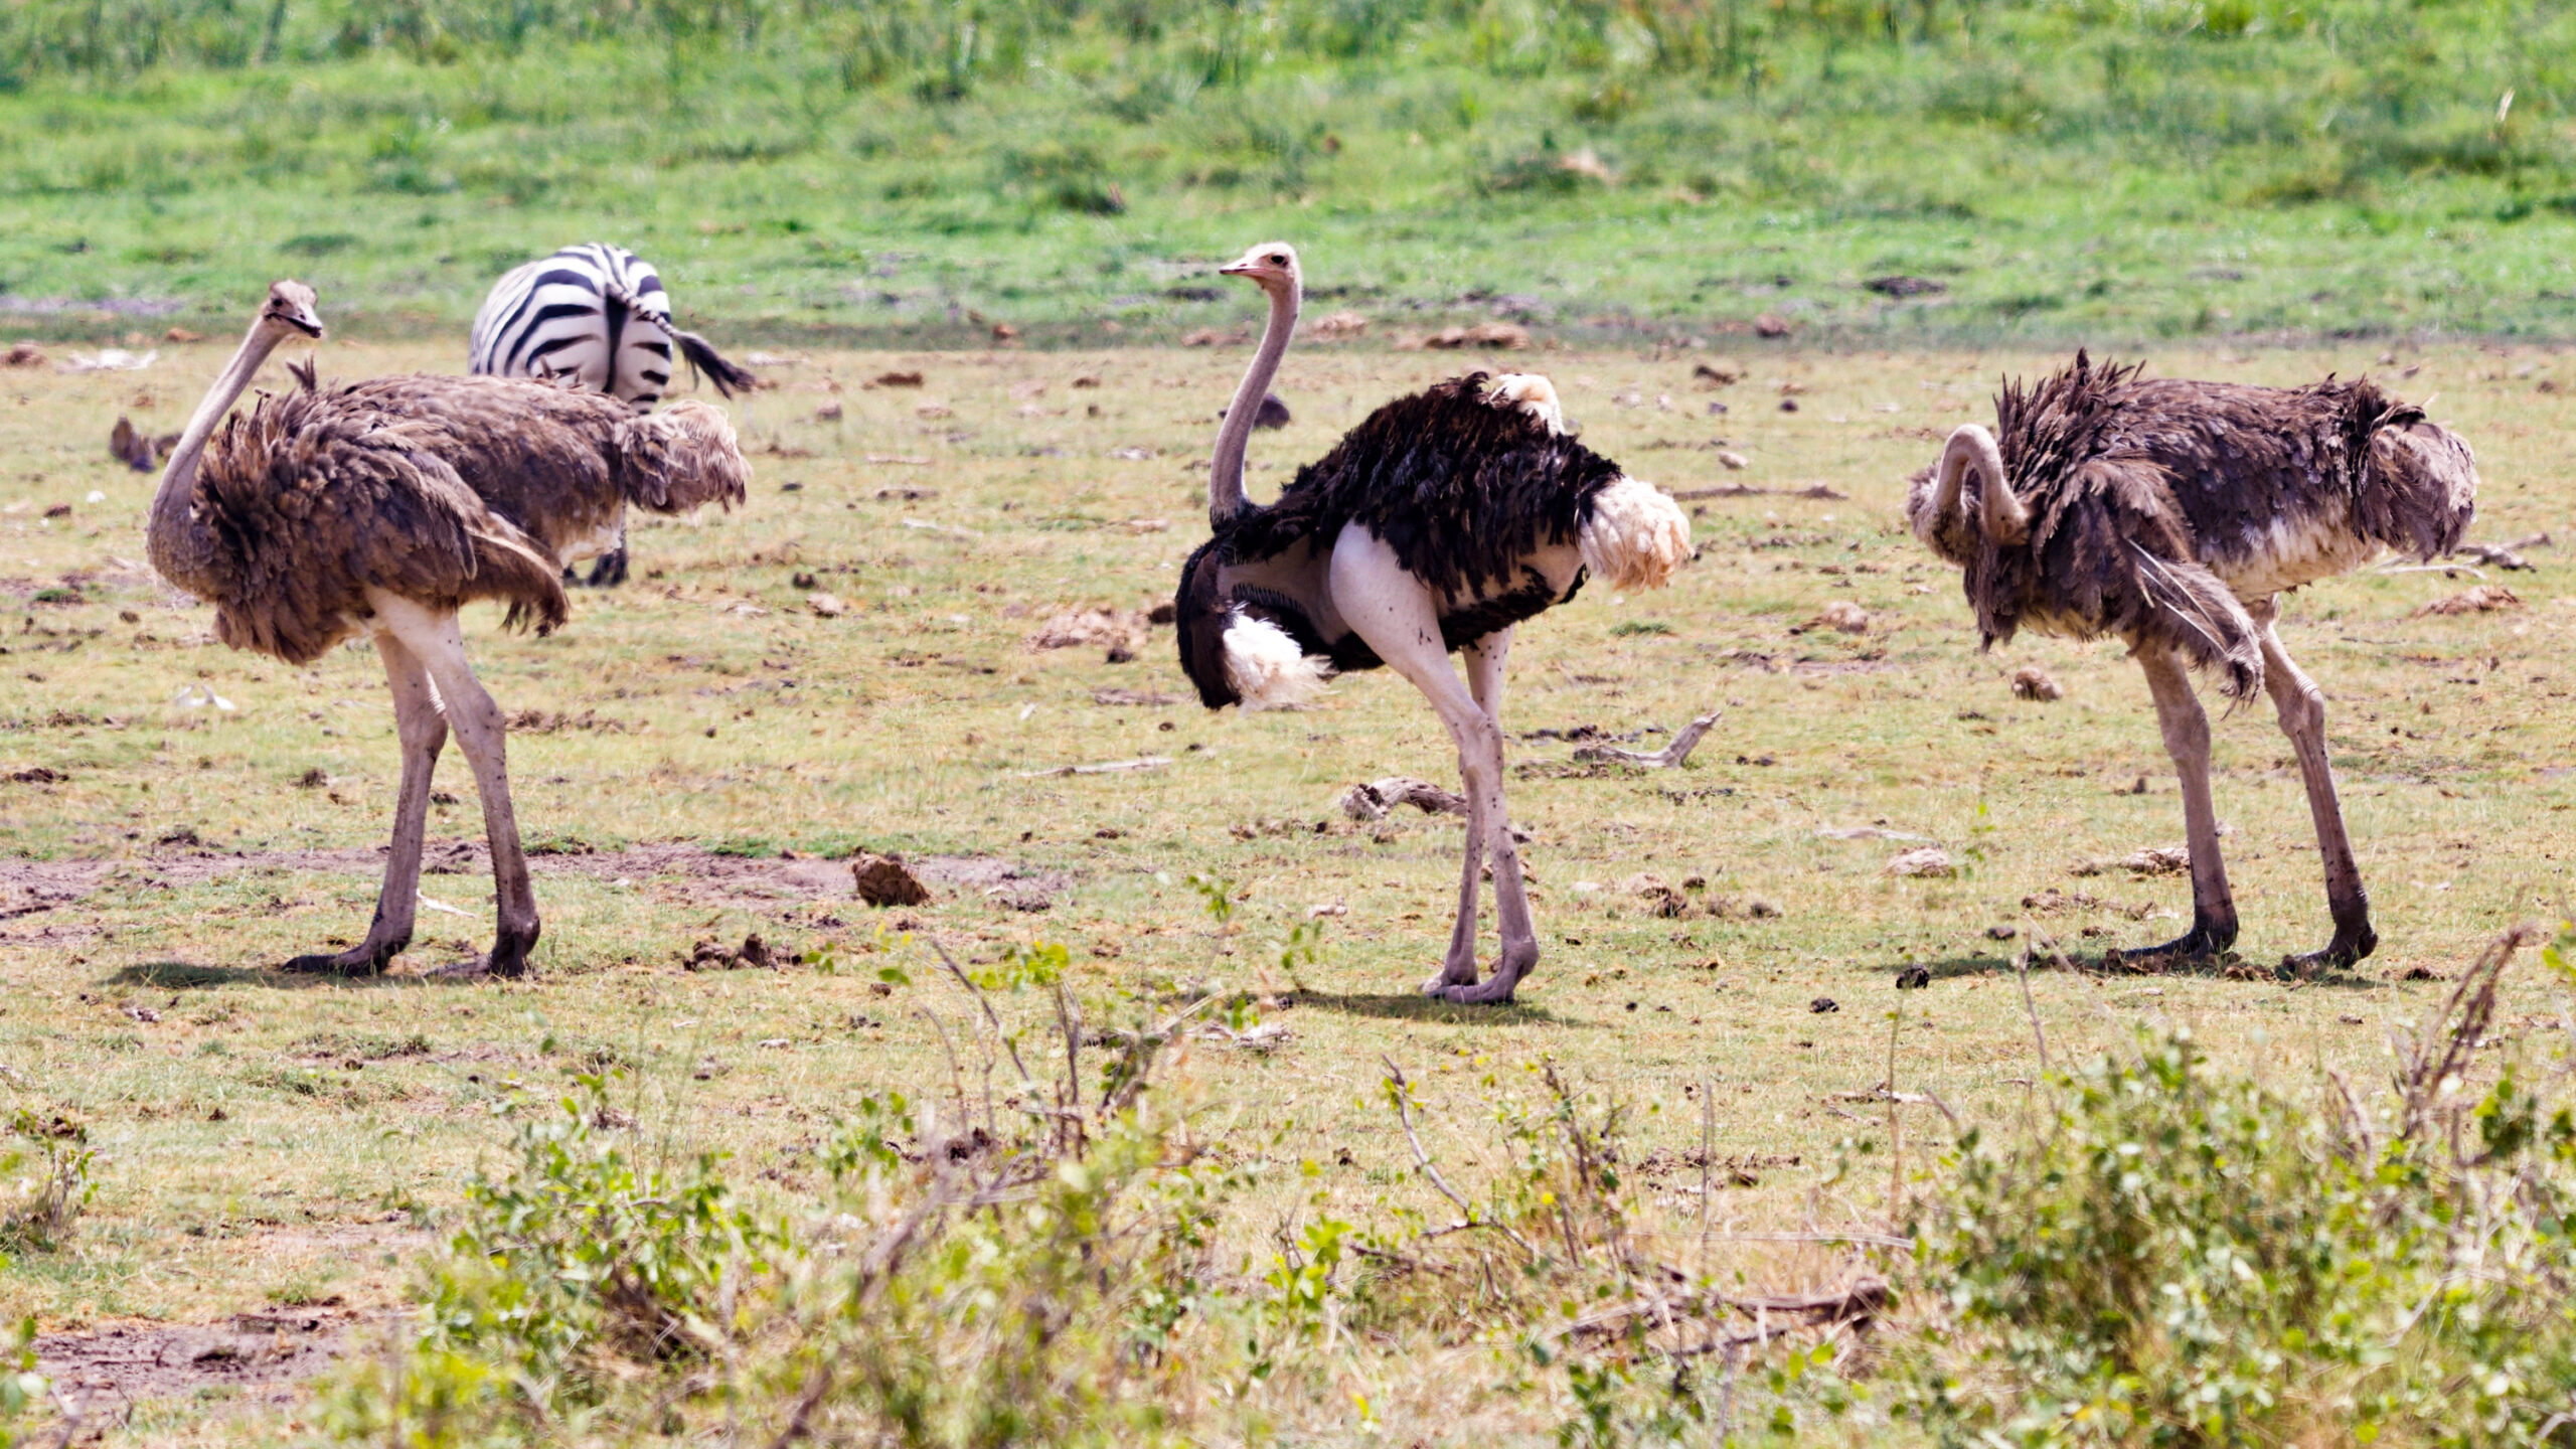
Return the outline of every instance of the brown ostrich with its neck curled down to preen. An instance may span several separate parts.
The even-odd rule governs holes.
[[[1965,480],[1978,503],[1963,508]],[[2138,366],[2074,366],[1996,397],[1996,433],[1950,433],[1914,474],[1906,523],[1965,565],[1986,645],[2014,629],[2128,639],[2182,776],[2192,931],[2130,964],[2223,951],[2236,900],[2210,807],[2210,722],[2187,668],[2218,670],[2231,701],[2272,691],[2298,750],[2326,859],[2334,941],[2282,967],[2349,967],[2378,946],[2326,766],[2326,696],[2280,645],[2275,598],[2380,549],[2447,554],[2468,531],[2478,467],[2455,433],[2370,382],[2236,387],[2146,382]]]

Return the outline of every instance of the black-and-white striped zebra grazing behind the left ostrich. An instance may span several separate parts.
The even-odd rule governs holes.
[[[466,371],[492,376],[556,376],[652,413],[670,387],[672,343],[690,374],[706,374],[732,397],[752,374],[724,361],[714,343],[670,325],[670,294],[652,263],[626,248],[585,242],[513,268],[492,284],[474,315]],[[590,585],[626,583],[626,516],[598,539]],[[572,570],[564,570],[572,580]]]

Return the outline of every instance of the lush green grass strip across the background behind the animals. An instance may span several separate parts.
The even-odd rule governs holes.
[[[2576,325],[2576,21],[2501,0],[93,15],[0,21],[21,330],[296,273],[453,335],[613,237],[734,343],[1105,345],[1239,325],[1208,263],[1270,235],[1376,335]]]

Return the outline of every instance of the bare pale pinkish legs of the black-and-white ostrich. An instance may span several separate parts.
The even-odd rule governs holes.
[[[1458,877],[1458,923],[1450,928],[1450,949],[1440,975],[1422,982],[1422,993],[1461,1003],[1512,1000],[1520,977],[1538,964],[1538,936],[1528,923],[1528,897],[1517,890],[1520,856],[1512,851],[1512,835],[1510,830],[1497,835],[1494,828],[1504,815],[1502,730],[1458,683],[1458,670],[1450,668],[1448,647],[1440,642],[1440,606],[1419,578],[1404,572],[1394,549],[1365,529],[1345,529],[1332,547],[1329,578],[1332,603],[1342,619],[1386,660],[1386,668],[1401,673],[1430,699],[1458,745],[1458,776],[1466,786],[1466,866]],[[1492,851],[1492,859],[1504,938],[1494,975],[1476,982],[1476,877],[1494,841],[1502,846]],[[1515,905],[1517,923],[1512,920]]]

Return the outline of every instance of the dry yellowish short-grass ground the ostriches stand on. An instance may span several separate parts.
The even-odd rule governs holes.
[[[2290,382],[2375,356],[2177,351],[2156,366]],[[118,413],[175,428],[219,358],[206,343],[165,348],[139,374],[0,374],[0,590],[18,601],[0,657],[0,861],[13,871],[0,877],[0,1109],[59,1114],[98,1152],[72,1238],[0,1269],[0,1318],[204,1320],[317,1284],[350,1305],[392,1302],[464,1173],[505,1147],[510,1122],[546,1111],[567,1073],[603,1065],[657,1083],[652,1122],[675,1147],[729,1150],[737,1181],[799,1201],[801,1152],[829,1119],[863,1096],[948,1091],[938,1024],[958,1031],[971,1003],[920,936],[971,969],[1061,941],[1092,1021],[1216,985],[1285,995],[1270,1011],[1293,1031],[1283,1049],[1198,1047],[1182,1067],[1195,1132],[1265,1173],[1221,1222],[1247,1263],[1298,1214],[1437,1207],[1386,1132],[1381,1055],[1414,1078],[1427,1142],[1453,1173],[1502,1165],[1489,1104],[1525,1096],[1517,1067],[1553,1060],[1636,1109],[1636,1150],[1664,1163],[1638,1168],[1649,1183],[1695,1176],[1674,1165],[1700,1142],[1685,1088],[1716,1083],[1716,1155],[1749,1178],[1721,1189],[1718,1230],[1883,1222],[1883,1176],[1834,1168],[1883,1137],[1880,1109],[1834,1093],[1888,1075],[1886,1013],[1906,1011],[1899,1085],[1973,1122],[2009,1119],[2025,1101],[2014,1078],[2035,1062],[2017,944],[1989,928],[2038,920],[2092,954],[2172,936],[2190,910],[2179,877],[2069,877],[2074,861],[2182,833],[2136,668],[2115,645],[1976,652],[1955,575],[1893,518],[1927,438],[1986,415],[1991,379],[2043,356],[1785,351],[1721,394],[1692,389],[1690,353],[1548,358],[1587,441],[1643,477],[1674,490],[1832,482],[1850,498],[1695,503],[1703,557],[1669,593],[1587,590],[1522,632],[1515,732],[1726,714],[1674,773],[1569,768],[1571,748],[1551,737],[1512,745],[1548,954],[1520,1006],[1466,1011],[1414,995],[1445,936],[1455,825],[1412,812],[1358,825],[1337,810],[1355,781],[1453,776],[1412,691],[1363,676],[1311,712],[1211,717],[1095,701],[1185,696],[1167,632],[1121,665],[1028,647],[1056,611],[1167,593],[1203,500],[1193,462],[1239,358],[814,351],[773,369],[775,392],[734,405],[760,449],[747,508],[639,526],[636,580],[580,593],[551,639],[469,619],[502,706],[544,712],[510,740],[520,820],[556,851],[538,859],[538,975],[417,975],[489,931],[487,877],[469,866],[425,877],[461,915],[425,910],[402,975],[278,977],[268,967],[289,954],[363,931],[397,755],[371,652],[312,670],[227,652],[206,611],[137,562],[152,480],[95,443]],[[433,345],[322,348],[325,374],[345,376],[448,361]],[[2432,348],[2398,364],[2421,369],[2406,387],[2439,392],[2445,423],[2478,446],[2478,536],[2568,539],[2576,498],[2555,456],[2576,418],[2568,392],[2537,392],[2555,382],[2550,353]],[[1280,392],[1298,420],[1255,446],[1255,492],[1448,366],[1293,353]],[[927,382],[868,384],[891,369]],[[1780,384],[1801,387],[1795,413],[1775,410]],[[1710,397],[1731,413],[1705,415]],[[840,415],[819,418],[824,402]],[[1749,469],[1716,464],[1721,436]],[[49,516],[57,505],[70,513]],[[2558,902],[2561,820],[2576,807],[2561,704],[2576,588],[2561,552],[2532,559],[2537,572],[2496,580],[2522,596],[2514,611],[2416,616],[2465,588],[2439,572],[2331,580],[2287,608],[2285,639],[2334,701],[2380,954],[2306,987],[2038,972],[2030,990],[2061,1062],[2159,1021],[2285,1091],[2326,1070],[2375,1078],[2385,1029],[2445,990],[2409,969],[2455,975],[2501,926]],[[36,603],[41,590],[77,601]],[[848,614],[814,614],[819,590]],[[1870,629],[1806,629],[1829,601],[1860,603]],[[2007,681],[2025,663],[2066,699],[2017,701]],[[173,704],[183,688],[234,709]],[[1175,763],[1033,776],[1141,755]],[[433,841],[471,843],[471,776],[443,766],[453,794],[433,810]],[[2306,802],[2262,712],[2221,722],[2218,771],[2241,949],[2267,962],[2316,946],[2326,920]],[[1891,879],[1880,866],[1906,841],[1826,835],[1860,825],[1937,838],[1971,869]],[[775,859],[855,846],[1007,861],[1061,890],[1043,913],[1018,910],[1025,890],[994,874],[974,877],[992,895],[963,884],[871,913],[845,866]],[[618,864],[580,869],[600,853]],[[824,890],[755,874],[804,869]],[[1211,928],[1190,877],[1231,882],[1231,931]],[[1705,884],[1685,890],[1687,915],[1659,918],[1638,877]],[[88,892],[46,895],[67,879]],[[1267,941],[1316,908],[1329,908],[1319,959],[1280,967]],[[752,931],[835,969],[683,969],[698,938]],[[1906,962],[1929,967],[1927,993],[1893,990]],[[1839,1011],[1814,1011],[1819,998]],[[2509,977],[2501,1018],[2548,1000]],[[1747,1261],[1759,1279],[1829,1269],[1798,1248]],[[1435,1364],[1360,1356],[1350,1372],[1388,1434],[1437,1436],[1427,1426],[1455,1408]],[[1515,1403],[1479,1400],[1476,1423],[1504,1436],[1553,1423]],[[1345,1400],[1293,1405],[1314,1434],[1350,1431],[1350,1413]]]

